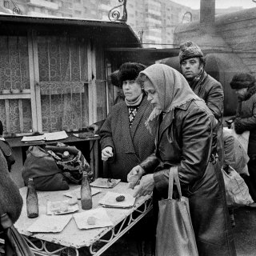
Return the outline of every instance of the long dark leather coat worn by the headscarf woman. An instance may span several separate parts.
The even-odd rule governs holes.
[[[204,102],[177,107],[158,127],[156,151],[140,164],[154,170],[159,198],[166,198],[170,166],[178,166],[182,194],[189,198],[200,256],[233,256],[234,241],[226,207],[224,182],[216,151],[216,122]],[[212,138],[212,139],[211,139]]]

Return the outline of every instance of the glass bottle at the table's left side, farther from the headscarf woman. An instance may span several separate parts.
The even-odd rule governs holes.
[[[38,217],[38,194],[34,188],[33,178],[29,178],[26,192],[26,213],[28,218]]]

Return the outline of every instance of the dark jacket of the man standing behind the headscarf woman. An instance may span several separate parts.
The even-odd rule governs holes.
[[[222,118],[223,118],[223,102],[224,92],[222,84],[212,78],[210,74],[204,72],[202,79],[194,86],[191,87],[198,97],[202,98],[206,102],[206,106],[209,107],[214,117],[218,120],[218,157],[223,164],[224,158],[224,145],[222,139]]]

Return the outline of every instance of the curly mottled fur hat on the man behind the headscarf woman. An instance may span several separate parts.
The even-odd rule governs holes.
[[[187,58],[194,57],[203,57],[202,50],[197,46],[194,42],[183,42],[179,46],[179,62],[181,63],[183,60]]]

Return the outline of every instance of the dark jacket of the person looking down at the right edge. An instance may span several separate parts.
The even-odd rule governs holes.
[[[251,87],[245,98],[238,102],[234,129],[238,134],[250,130],[248,155],[256,160],[256,86]]]

